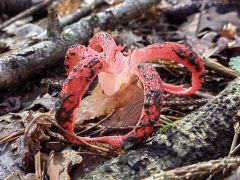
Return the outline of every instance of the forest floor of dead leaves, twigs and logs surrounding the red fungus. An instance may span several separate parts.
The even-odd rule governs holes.
[[[239,16],[237,0],[1,1],[0,179],[239,179]],[[65,80],[71,76],[64,66],[68,48],[87,47],[99,32],[124,45],[119,48],[126,57],[129,49],[133,54],[151,44],[177,42],[205,64],[204,82],[194,94],[161,89],[153,135],[129,149],[72,144],[55,118],[62,87],[71,86]],[[163,82],[198,86],[200,77],[191,82],[198,70],[163,60],[148,63]],[[123,135],[141,125],[147,97],[139,79],[113,95],[104,93],[99,81],[82,94],[75,133]]]

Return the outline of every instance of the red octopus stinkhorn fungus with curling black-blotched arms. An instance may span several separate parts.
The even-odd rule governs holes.
[[[81,141],[104,143],[118,149],[131,147],[151,135],[155,122],[159,120],[164,91],[176,95],[190,95],[196,92],[204,81],[203,60],[183,45],[173,42],[153,44],[128,53],[123,53],[123,49],[111,35],[100,32],[90,40],[88,47],[72,46],[66,53],[68,78],[56,104],[56,120],[70,133],[74,134],[77,107],[97,75],[107,95],[114,94],[134,75],[139,77],[144,87],[144,106],[139,122],[133,130],[119,136],[78,137]],[[183,86],[164,83],[152,66],[143,64],[159,60],[172,60],[183,64],[192,73],[192,87],[185,89]],[[79,144],[79,141],[69,135],[65,134],[65,137],[71,143]]]

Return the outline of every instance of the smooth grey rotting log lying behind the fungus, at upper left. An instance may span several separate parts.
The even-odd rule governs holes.
[[[86,44],[94,28],[106,30],[142,15],[161,0],[126,0],[116,7],[79,20],[66,27],[61,38],[49,39],[13,53],[0,55],[0,88],[16,85],[24,79],[49,68],[63,59],[67,48],[73,44]]]

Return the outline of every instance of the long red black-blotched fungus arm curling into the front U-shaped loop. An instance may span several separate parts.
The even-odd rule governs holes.
[[[58,123],[68,132],[74,134],[74,121],[76,109],[88,89],[89,84],[103,69],[104,62],[97,58],[89,58],[79,63],[63,85],[60,94],[60,102],[56,109]],[[149,137],[153,131],[153,125],[160,116],[162,104],[161,79],[154,68],[150,65],[139,65],[138,75],[144,86],[144,108],[137,126],[128,134],[123,136],[103,137],[78,137],[87,143],[107,143],[114,148],[129,148]],[[87,75],[87,76],[86,76]],[[65,137],[74,144],[79,141],[65,134]]]

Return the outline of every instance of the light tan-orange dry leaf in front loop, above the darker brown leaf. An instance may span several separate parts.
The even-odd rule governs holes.
[[[124,107],[129,101],[141,97],[143,90],[136,82],[124,87],[112,96],[103,93],[99,85],[93,90],[92,95],[84,98],[79,106],[78,121],[93,119],[102,115],[110,114],[112,111]]]

